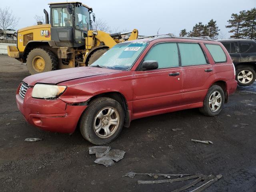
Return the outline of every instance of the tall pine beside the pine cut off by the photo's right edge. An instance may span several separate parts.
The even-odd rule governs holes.
[[[231,38],[243,38],[244,32],[242,31],[242,28],[244,26],[244,18],[246,16],[245,10],[240,11],[239,14],[232,14],[231,19],[228,20],[229,25],[226,26],[226,28],[230,28],[230,33],[233,33],[231,35]]]

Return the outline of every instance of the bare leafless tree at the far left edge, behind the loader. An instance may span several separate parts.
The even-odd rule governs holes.
[[[6,30],[9,28],[15,28],[18,24],[19,18],[12,14],[12,10],[9,7],[0,8],[0,28],[3,30],[4,39],[6,42]]]

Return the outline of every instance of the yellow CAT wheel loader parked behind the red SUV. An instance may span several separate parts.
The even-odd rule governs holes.
[[[136,29],[116,34],[93,30],[95,14],[81,2],[49,5],[50,23],[44,10],[46,24],[18,30],[17,46],[7,47],[10,57],[26,62],[30,74],[88,66],[117,43],[138,38]]]

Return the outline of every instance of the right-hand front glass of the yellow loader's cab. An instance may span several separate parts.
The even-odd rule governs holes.
[[[88,31],[90,30],[90,12],[84,6],[76,7],[76,29]]]

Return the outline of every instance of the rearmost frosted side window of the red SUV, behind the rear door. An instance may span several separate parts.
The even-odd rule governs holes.
[[[206,48],[212,55],[214,62],[226,62],[227,57],[220,45],[205,44]]]

